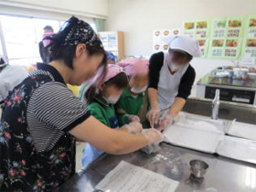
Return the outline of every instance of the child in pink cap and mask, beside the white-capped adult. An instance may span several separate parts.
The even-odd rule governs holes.
[[[129,84],[117,103],[119,125],[140,121],[138,114],[143,106],[144,91],[148,87],[148,64],[148,60],[140,58],[119,62],[119,66],[124,68],[129,78]]]

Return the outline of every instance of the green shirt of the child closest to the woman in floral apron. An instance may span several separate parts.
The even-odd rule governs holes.
[[[117,128],[119,123],[112,104],[108,104],[101,96],[95,96],[94,102],[88,105],[90,113],[102,124]]]

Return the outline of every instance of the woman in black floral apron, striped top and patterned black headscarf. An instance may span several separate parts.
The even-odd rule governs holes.
[[[72,17],[50,40],[49,65],[39,64],[9,94],[0,124],[1,191],[52,191],[75,172],[75,142],[109,154],[131,153],[162,141],[159,131],[133,135],[103,125],[66,84],[95,76],[101,84],[106,54],[96,32]]]

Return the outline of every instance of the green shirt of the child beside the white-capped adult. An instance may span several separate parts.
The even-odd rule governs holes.
[[[140,109],[143,106],[143,93],[138,94],[137,96],[131,96],[131,91],[128,88],[125,88],[122,95],[117,102],[117,107],[122,109],[124,113],[119,113],[119,125],[129,124],[129,115],[138,115]]]

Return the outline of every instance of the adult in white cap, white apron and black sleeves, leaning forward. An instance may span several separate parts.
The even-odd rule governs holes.
[[[187,36],[172,38],[167,53],[151,56],[147,114],[151,126],[164,130],[182,110],[195,81],[195,69],[189,64],[194,56],[201,56],[201,49]]]

